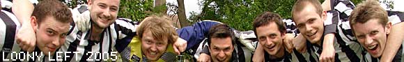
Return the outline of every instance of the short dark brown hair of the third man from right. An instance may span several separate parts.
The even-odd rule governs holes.
[[[286,33],[286,26],[283,23],[282,17],[279,16],[279,14],[276,14],[273,12],[264,12],[263,14],[256,17],[256,19],[253,22],[254,32],[256,32],[256,28],[264,26],[264,25],[269,25],[271,22],[274,22],[277,24],[279,32]],[[257,34],[256,34],[256,36],[257,36]]]

